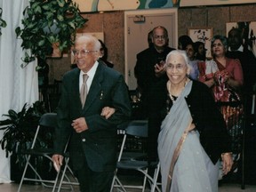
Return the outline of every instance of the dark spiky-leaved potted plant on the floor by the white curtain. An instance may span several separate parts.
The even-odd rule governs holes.
[[[11,156],[11,179],[20,180],[25,165],[25,156],[22,150],[31,148],[35,136],[36,126],[40,117],[45,113],[42,101],[36,101],[28,106],[26,103],[20,112],[12,109],[8,111],[7,119],[0,121],[0,130],[4,130],[0,140],[1,148],[5,150],[6,157]],[[40,147],[48,148],[51,145],[52,135],[48,132],[40,134]],[[13,172],[12,172],[13,170]],[[20,171],[20,172],[19,172]]]

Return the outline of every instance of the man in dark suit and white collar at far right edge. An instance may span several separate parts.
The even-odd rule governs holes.
[[[228,32],[228,53],[227,57],[238,59],[241,62],[244,72],[244,113],[246,117],[244,133],[244,180],[253,183],[256,180],[256,153],[255,135],[256,131],[252,124],[253,117],[253,92],[256,92],[256,58],[248,46],[243,43],[243,31],[240,28],[232,28]],[[254,99],[255,100],[255,99]]]

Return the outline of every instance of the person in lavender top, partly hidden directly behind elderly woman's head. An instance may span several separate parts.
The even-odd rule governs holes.
[[[187,52],[187,56],[188,56],[188,64],[191,67],[188,76],[191,79],[197,80],[198,76],[199,76],[199,71],[198,71],[198,67],[197,67],[198,60],[196,60],[196,58],[195,58],[195,53],[196,53],[195,51],[196,51],[195,44],[188,43],[186,46],[186,52]]]

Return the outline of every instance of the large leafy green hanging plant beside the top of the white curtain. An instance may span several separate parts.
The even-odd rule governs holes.
[[[22,68],[36,57],[45,60],[52,54],[52,44],[58,44],[60,52],[68,50],[74,44],[76,28],[87,21],[72,0],[30,0],[23,15],[23,28],[15,29],[26,50]]]

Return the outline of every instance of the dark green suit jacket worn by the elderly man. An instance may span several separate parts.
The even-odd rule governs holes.
[[[60,103],[57,108],[58,127],[54,148],[62,154],[70,137],[70,159],[74,169],[87,164],[94,172],[113,171],[116,167],[116,125],[131,116],[131,106],[124,77],[101,61],[92,80],[82,109],[79,97],[80,69],[75,68],[63,76]],[[116,108],[108,120],[100,116],[104,107]],[[85,117],[89,130],[76,133],[72,120]]]

